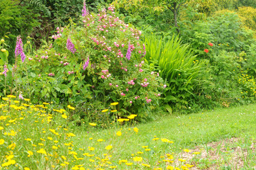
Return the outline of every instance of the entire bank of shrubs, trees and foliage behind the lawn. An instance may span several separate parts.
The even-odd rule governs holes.
[[[255,101],[254,1],[87,1],[85,16],[81,1],[1,3],[1,94],[75,104],[78,124],[104,124],[113,113],[101,110],[113,101],[119,116],[138,113],[137,120],[162,107]],[[102,11],[109,3],[117,13]]]

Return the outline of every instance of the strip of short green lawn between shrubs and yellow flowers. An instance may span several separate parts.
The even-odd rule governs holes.
[[[169,152],[178,152],[184,148],[193,148],[196,145],[229,137],[256,137],[255,111],[256,105],[222,108],[190,115],[169,115],[152,123],[138,125],[136,126],[139,129],[137,135],[119,137],[120,140],[126,140],[126,142],[120,144],[121,147],[118,151],[120,156],[118,157],[119,159],[126,159],[130,157],[130,154],[135,154],[138,151],[143,152],[142,146],[145,145],[152,149],[148,154],[153,155],[155,152],[162,154],[168,150]],[[126,129],[123,127],[123,131]],[[88,133],[77,132],[79,139],[74,140],[74,143],[77,142],[81,146],[88,145],[91,142],[89,137],[107,141],[117,131],[117,129],[110,129]],[[163,147],[160,140],[152,141],[154,136],[160,139],[167,138],[174,141],[174,144]],[[163,148],[165,148],[164,151],[162,151]]]

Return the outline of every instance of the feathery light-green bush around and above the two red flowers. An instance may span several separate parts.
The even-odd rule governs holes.
[[[191,44],[193,51],[199,58],[211,60],[213,55],[218,55],[223,50],[227,52],[247,51],[254,42],[253,32],[245,30],[240,18],[233,12],[216,13],[206,21],[194,21],[190,25],[183,25],[182,38]],[[208,43],[213,43],[210,47]],[[204,52],[208,49],[210,53]]]

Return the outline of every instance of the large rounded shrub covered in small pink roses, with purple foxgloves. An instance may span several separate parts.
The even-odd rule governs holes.
[[[57,28],[52,42],[25,60],[27,68],[18,67],[26,74],[20,77],[21,91],[30,82],[34,90],[27,94],[79,104],[82,117],[100,119],[100,110],[118,101],[124,108],[119,116],[142,118],[157,108],[164,84],[143,60],[140,34],[116,17],[112,6],[97,14],[87,11],[81,23]]]

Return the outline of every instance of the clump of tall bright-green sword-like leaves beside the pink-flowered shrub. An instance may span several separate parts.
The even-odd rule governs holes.
[[[160,77],[169,84],[166,102],[177,103],[179,107],[187,105],[203,83],[206,62],[196,60],[189,45],[183,45],[174,35],[170,40],[157,38],[154,34],[145,36],[145,47],[145,59],[160,69]]]

